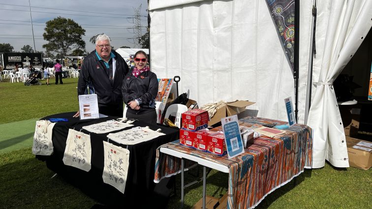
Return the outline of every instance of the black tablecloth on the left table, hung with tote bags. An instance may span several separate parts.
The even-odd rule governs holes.
[[[79,118],[72,118],[73,115],[74,113],[71,112],[42,118],[66,118],[68,121],[58,122],[53,128],[52,141],[54,153],[51,156],[36,155],[36,158],[43,161],[45,160],[49,169],[105,205],[120,205],[136,208],[163,208],[163,204],[166,202],[172,189],[172,179],[164,179],[158,184],[154,183],[156,148],[178,139],[179,131],[169,127],[135,121],[132,123],[134,126],[149,126],[153,130],[161,128],[161,132],[166,135],[130,146],[121,145],[112,140],[109,141],[114,145],[124,147],[130,151],[128,176],[125,192],[122,194],[113,186],[103,183],[102,180],[104,164],[102,141],[107,141],[106,136],[108,133],[95,134],[82,129],[83,126],[110,119],[117,119],[117,117],[80,120]],[[81,132],[91,134],[92,169],[89,172],[72,166],[66,166],[62,162],[69,128],[79,131],[82,129]],[[119,131],[113,131],[112,133]],[[137,200],[141,201],[137,202]],[[156,204],[158,205],[156,206]]]

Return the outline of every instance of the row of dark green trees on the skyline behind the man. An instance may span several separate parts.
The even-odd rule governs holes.
[[[83,36],[85,30],[75,21],[63,17],[57,17],[53,20],[47,21],[43,33],[44,40],[48,41],[42,47],[46,50],[43,57],[63,58],[64,56],[82,56],[88,54],[85,49],[85,41]],[[100,33],[103,34],[103,33]],[[94,44],[96,34],[90,38],[90,42]],[[149,32],[145,33],[138,40],[142,48],[148,49],[150,47]],[[122,46],[120,48],[130,48]],[[112,47],[112,49],[114,49]],[[34,50],[30,45],[24,45],[21,48],[22,52],[33,53]],[[14,47],[9,43],[0,43],[0,52],[16,52]],[[56,53],[54,56],[53,53]]]

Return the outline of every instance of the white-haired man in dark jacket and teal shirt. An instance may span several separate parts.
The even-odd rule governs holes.
[[[102,34],[95,39],[95,50],[85,59],[80,70],[78,95],[87,94],[87,87],[97,94],[99,113],[123,116],[123,78],[129,71],[124,59],[111,51],[110,37]],[[74,117],[79,116],[77,112]]]

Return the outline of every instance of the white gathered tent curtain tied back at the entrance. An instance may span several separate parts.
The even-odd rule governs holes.
[[[314,131],[313,168],[325,160],[348,167],[345,135],[333,82],[372,25],[372,0],[318,0],[313,95],[308,125]]]

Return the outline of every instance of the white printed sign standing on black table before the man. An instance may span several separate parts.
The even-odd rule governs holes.
[[[98,119],[97,94],[79,95],[80,119]]]

